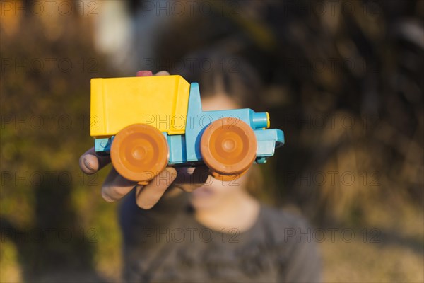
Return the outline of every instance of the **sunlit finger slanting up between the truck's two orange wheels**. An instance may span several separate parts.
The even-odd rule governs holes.
[[[177,178],[175,168],[167,167],[144,187],[137,186],[136,203],[143,209],[151,209],[163,196],[165,190]]]

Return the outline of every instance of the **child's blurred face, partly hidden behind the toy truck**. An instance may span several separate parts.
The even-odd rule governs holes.
[[[204,111],[228,110],[240,108],[234,100],[225,94],[217,94],[202,98],[202,107]],[[213,209],[220,204],[230,202],[233,198],[245,193],[245,184],[249,171],[237,180],[224,182],[208,177],[204,186],[194,190],[191,194],[192,205],[195,209]]]

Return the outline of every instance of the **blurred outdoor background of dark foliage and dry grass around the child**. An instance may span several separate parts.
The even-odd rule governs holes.
[[[286,144],[261,200],[317,229],[324,282],[423,282],[424,1],[1,1],[1,282],[118,282],[90,79],[242,57]]]

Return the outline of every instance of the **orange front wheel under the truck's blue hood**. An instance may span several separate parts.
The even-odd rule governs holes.
[[[211,175],[220,180],[238,178],[256,158],[257,140],[253,129],[235,117],[214,121],[205,129],[200,141],[204,163]]]

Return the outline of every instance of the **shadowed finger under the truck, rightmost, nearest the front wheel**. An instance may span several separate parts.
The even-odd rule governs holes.
[[[178,168],[177,178],[172,185],[186,192],[192,192],[204,185],[208,177],[209,168],[207,166],[197,166],[194,170],[192,168]]]

